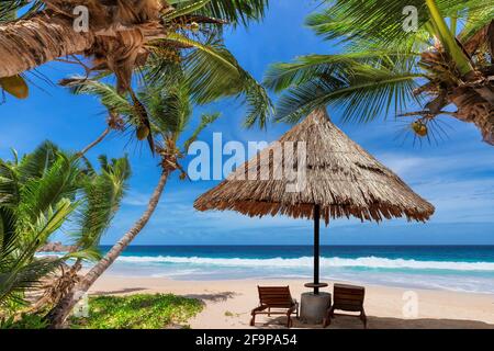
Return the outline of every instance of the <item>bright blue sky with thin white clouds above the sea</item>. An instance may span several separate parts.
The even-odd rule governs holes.
[[[303,21],[316,8],[312,1],[274,0],[267,19],[248,30],[227,34],[227,46],[240,64],[259,80],[270,63],[287,61],[297,55],[334,53],[335,47],[317,38]],[[48,64],[40,72],[56,82],[78,72],[77,67]],[[10,157],[10,147],[20,154],[32,150],[45,139],[66,149],[78,150],[93,140],[105,127],[104,110],[89,97],[72,97],[63,88],[32,78],[26,101],[8,101],[0,105],[0,157]],[[222,118],[201,138],[209,141],[215,132],[224,141],[276,140],[290,126],[271,124],[267,131],[245,129],[245,110],[236,101],[225,101],[197,109],[221,111]],[[402,145],[395,139],[403,123],[390,120],[341,124],[338,113],[329,110],[334,122],[352,139],[403,178],[417,193],[436,206],[427,224],[402,219],[380,225],[338,219],[322,233],[323,244],[408,245],[408,244],[494,244],[494,147],[481,141],[473,125],[444,118],[450,126],[449,139],[439,145]],[[133,178],[131,189],[112,227],[103,238],[111,245],[128,229],[145,210],[158,180],[157,160],[145,146],[127,145],[122,135],[112,135],[89,155],[119,157],[128,152]],[[187,166],[187,163],[186,163]],[[235,213],[198,213],[195,197],[217,182],[179,181],[168,183],[162,201],[149,225],[136,238],[138,245],[289,245],[311,244],[312,223],[287,217],[248,218]]]

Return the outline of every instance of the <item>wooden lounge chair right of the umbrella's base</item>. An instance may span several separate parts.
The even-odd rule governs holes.
[[[359,312],[360,320],[363,322],[363,328],[367,328],[367,316],[363,310],[363,298],[366,296],[366,288],[363,286],[355,286],[347,284],[335,284],[333,290],[333,306],[329,308],[327,316],[324,320],[324,327],[327,327],[332,322],[332,318],[335,318],[335,309],[345,312]],[[347,315],[355,316],[355,315]]]

